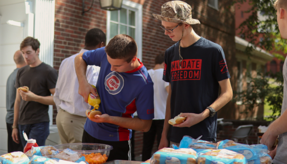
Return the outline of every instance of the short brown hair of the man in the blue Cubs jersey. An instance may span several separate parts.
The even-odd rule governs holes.
[[[105,52],[112,59],[125,59],[130,62],[138,53],[136,41],[125,34],[116,35],[105,47]]]

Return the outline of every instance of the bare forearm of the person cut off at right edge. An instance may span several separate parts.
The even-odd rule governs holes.
[[[287,112],[285,111],[277,120],[268,127],[274,136],[287,132]]]

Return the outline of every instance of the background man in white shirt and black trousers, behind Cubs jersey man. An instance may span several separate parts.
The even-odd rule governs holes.
[[[157,135],[158,146],[161,142],[162,132],[164,128],[166,99],[168,95],[168,82],[164,82],[164,54],[160,54],[155,58],[155,66],[149,69],[148,74],[153,82],[154,91],[154,119],[148,132],[143,133],[143,153],[142,161],[146,161],[151,157],[153,143]]]

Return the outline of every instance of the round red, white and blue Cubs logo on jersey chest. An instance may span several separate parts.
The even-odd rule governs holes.
[[[104,80],[105,89],[112,95],[116,95],[123,89],[123,77],[113,71],[109,73]]]

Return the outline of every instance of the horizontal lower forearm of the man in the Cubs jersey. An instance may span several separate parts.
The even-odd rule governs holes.
[[[123,118],[110,116],[107,123],[115,124],[127,129],[147,132],[150,129],[152,120],[141,120],[139,118]]]

